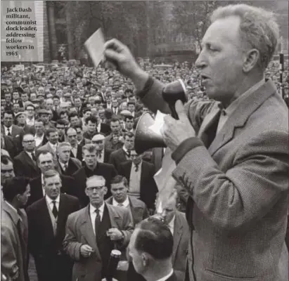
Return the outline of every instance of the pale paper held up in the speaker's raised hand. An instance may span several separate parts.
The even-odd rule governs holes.
[[[104,58],[104,43],[105,41],[101,28],[96,30],[96,32],[94,32],[94,34],[92,34],[84,43],[95,67],[98,67],[99,63],[101,63],[101,60]]]

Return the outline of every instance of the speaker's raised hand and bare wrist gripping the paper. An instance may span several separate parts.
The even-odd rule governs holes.
[[[139,67],[127,46],[117,39],[111,39],[105,42],[104,54],[108,61],[115,64],[121,74],[129,77],[134,82],[136,90],[143,89],[148,79],[148,74]]]

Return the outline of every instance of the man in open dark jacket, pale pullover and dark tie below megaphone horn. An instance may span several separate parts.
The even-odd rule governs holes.
[[[129,195],[140,199],[153,214],[155,209],[155,197],[158,188],[155,185],[155,168],[142,160],[142,155],[138,155],[135,150],[131,150],[131,160],[120,164],[120,175],[125,176],[129,182]]]

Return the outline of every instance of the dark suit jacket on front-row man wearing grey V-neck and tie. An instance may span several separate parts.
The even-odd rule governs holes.
[[[60,194],[55,235],[45,197],[27,208],[28,249],[34,257],[40,280],[71,280],[72,263],[63,252],[62,242],[68,215],[78,210],[76,197]]]

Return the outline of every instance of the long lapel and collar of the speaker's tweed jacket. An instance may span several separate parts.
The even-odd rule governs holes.
[[[214,155],[219,148],[231,141],[235,129],[244,126],[250,115],[252,115],[252,112],[255,112],[255,110],[274,93],[276,93],[276,87],[274,83],[269,80],[266,81],[263,86],[259,87],[255,93],[252,93],[248,98],[243,100],[229,119],[227,119],[221,131],[217,133],[216,138],[214,138],[214,141],[208,149],[210,155]]]

